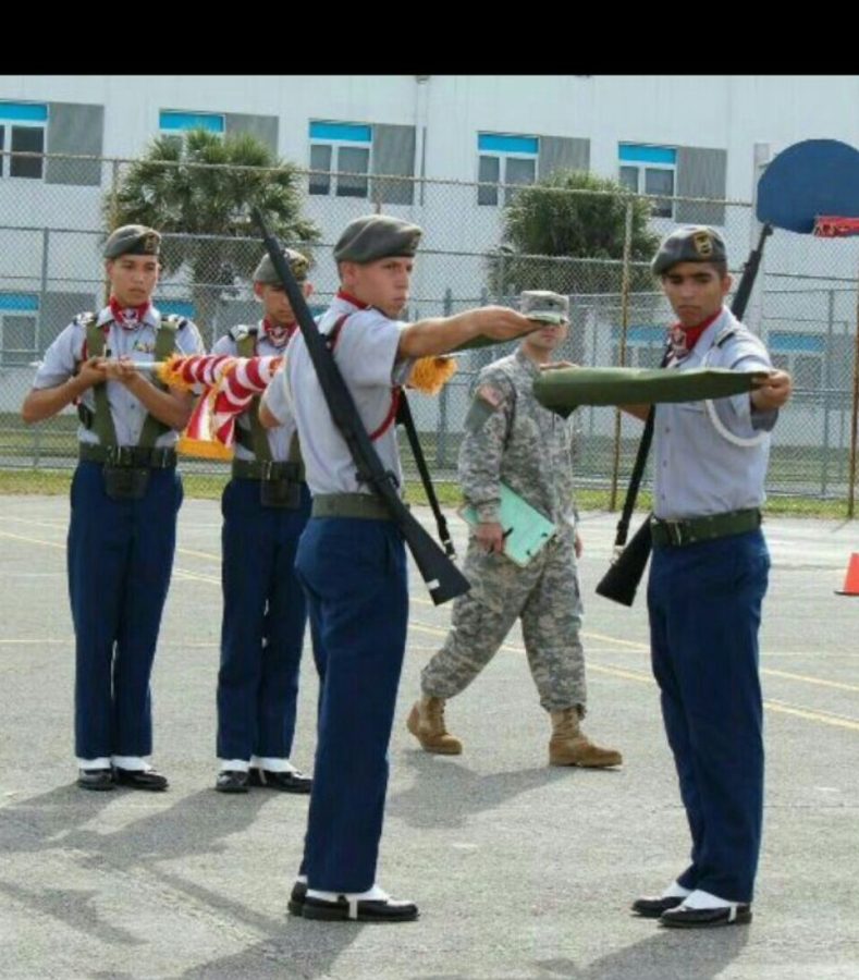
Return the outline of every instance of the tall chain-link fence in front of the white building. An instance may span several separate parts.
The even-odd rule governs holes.
[[[69,469],[74,464],[74,412],[69,408],[27,427],[20,406],[34,364],[54,338],[73,316],[106,302],[101,246],[106,229],[118,223],[119,192],[135,161],[9,152],[0,154],[0,174],[10,177],[0,180],[0,468]],[[24,164],[27,172],[22,171]],[[200,170],[210,173],[195,207],[208,208],[210,221],[217,221],[219,208],[229,212],[232,230],[165,233],[171,260],[156,305],[163,313],[195,319],[210,347],[231,326],[259,318],[250,271],[262,246],[247,221],[246,234],[237,234],[232,220],[236,211],[246,219],[248,210],[247,203],[241,204],[242,169]],[[603,230],[594,230],[593,255],[567,258],[505,247],[504,204],[516,187],[317,171],[298,172],[296,182],[302,217],[318,229],[309,245],[315,310],[324,308],[336,291],[331,252],[342,229],[359,215],[384,211],[425,230],[408,319],[487,303],[515,305],[521,289],[553,289],[568,295],[572,306],[572,328],[560,357],[596,366],[659,363],[671,310],[648,274],[647,261],[630,257],[631,196],[622,200],[623,247],[615,249],[615,257],[606,257]],[[221,201],[218,195],[224,186],[229,199]],[[552,193],[588,197],[585,192]],[[736,284],[757,243],[751,205],[692,198],[660,204],[663,217],[650,219],[650,232],[659,237],[677,221],[715,224],[725,237]],[[160,229],[168,219],[175,226],[175,205],[171,207]],[[308,248],[298,241],[284,238],[284,244]],[[825,241],[776,232],[745,314],[776,365],[794,375],[795,395],[776,429],[768,486],[771,500],[790,498],[797,512],[820,512],[821,502],[829,501],[833,513],[852,516],[858,269],[857,238]],[[463,420],[477,371],[508,350],[511,345],[471,352],[459,358],[457,373],[439,396],[413,397],[425,452],[440,480],[456,479]],[[611,408],[584,407],[576,415],[579,486],[594,491],[596,504],[615,506],[631,469],[640,424]],[[407,450],[404,461],[407,473],[414,474]],[[183,467],[212,487],[223,482],[223,465],[187,460]],[[646,487],[648,481],[649,474]]]

